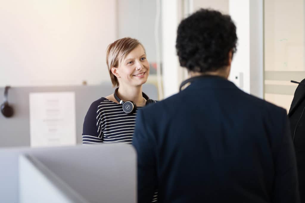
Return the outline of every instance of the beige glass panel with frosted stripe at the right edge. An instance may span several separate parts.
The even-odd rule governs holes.
[[[264,1],[264,98],[289,111],[305,78],[304,0]]]

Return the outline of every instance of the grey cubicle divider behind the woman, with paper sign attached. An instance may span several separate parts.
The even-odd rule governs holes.
[[[11,118],[5,118],[0,113],[0,147],[30,146],[29,93],[68,91],[75,92],[76,140],[80,144],[87,110],[93,101],[113,93],[114,88],[109,83],[100,86],[11,87],[8,101],[15,114]],[[151,99],[158,99],[157,88],[153,84],[144,84],[143,92]],[[0,88],[0,101],[3,93],[4,88]]]

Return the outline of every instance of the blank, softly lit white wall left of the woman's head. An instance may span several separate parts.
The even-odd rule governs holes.
[[[0,0],[0,86],[110,81],[116,1]]]

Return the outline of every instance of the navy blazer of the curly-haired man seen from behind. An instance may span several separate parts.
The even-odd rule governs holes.
[[[217,76],[139,111],[138,202],[300,202],[286,110]]]

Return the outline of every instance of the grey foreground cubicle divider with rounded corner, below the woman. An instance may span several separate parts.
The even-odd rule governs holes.
[[[90,203],[136,202],[136,153],[127,144],[0,149],[0,202],[19,202],[18,159],[24,154]]]

